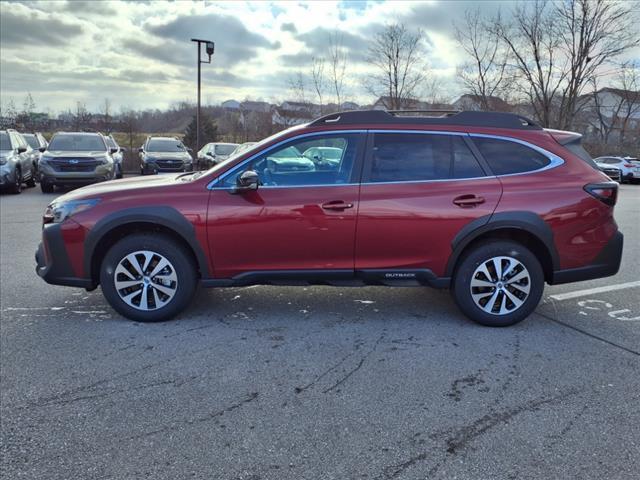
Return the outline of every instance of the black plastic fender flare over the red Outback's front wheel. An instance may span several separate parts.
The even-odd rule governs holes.
[[[182,238],[193,251],[202,278],[209,277],[209,267],[207,256],[202,250],[195,233],[195,227],[178,210],[169,206],[147,206],[132,207],[114,212],[98,221],[84,241],[83,266],[85,275],[91,277],[93,255],[100,240],[114,228],[121,227],[128,223],[151,223],[161,225],[175,232]]]

